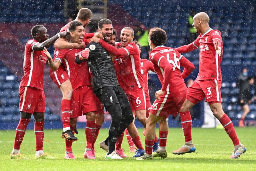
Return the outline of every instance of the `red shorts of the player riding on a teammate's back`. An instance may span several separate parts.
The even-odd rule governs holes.
[[[50,77],[53,82],[58,86],[58,88],[61,86],[62,83],[69,79],[69,75],[63,67],[60,67],[57,71],[53,71],[50,68]]]

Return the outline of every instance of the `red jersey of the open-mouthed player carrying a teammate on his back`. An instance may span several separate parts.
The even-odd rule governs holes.
[[[75,63],[75,56],[82,52],[82,49],[58,49],[55,54],[55,59],[64,61],[65,70],[69,75],[69,80],[73,90],[80,86],[90,86],[90,72],[87,61],[81,64]]]

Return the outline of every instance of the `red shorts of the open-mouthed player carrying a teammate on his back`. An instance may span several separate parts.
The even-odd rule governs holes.
[[[97,111],[97,106],[91,86],[80,86],[75,89],[71,97],[70,118],[93,111]]]

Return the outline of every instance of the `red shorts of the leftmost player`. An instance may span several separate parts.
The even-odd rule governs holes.
[[[45,93],[43,90],[21,86],[19,87],[19,111],[34,113],[45,112]]]

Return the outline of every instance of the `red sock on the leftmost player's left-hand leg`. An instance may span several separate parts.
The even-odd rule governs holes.
[[[15,140],[14,140],[14,149],[19,150],[21,147],[21,143],[23,140],[23,137],[26,132],[27,124],[29,124],[30,119],[20,119],[19,124],[16,128],[16,135],[15,135]]]

